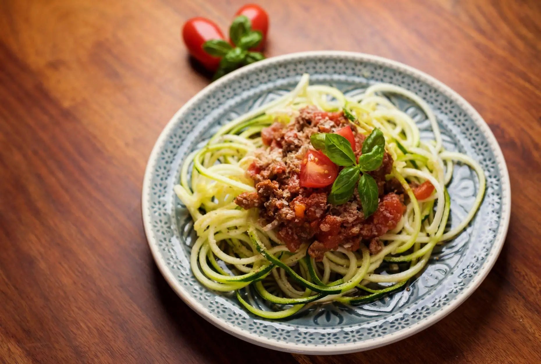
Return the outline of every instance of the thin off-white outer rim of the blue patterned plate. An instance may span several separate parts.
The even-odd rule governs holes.
[[[421,80],[430,84],[431,86],[437,88],[441,92],[444,92],[446,96],[450,97],[453,101],[455,101],[458,105],[460,105],[472,117],[474,124],[476,124],[479,127],[481,132],[483,132],[483,134],[487,138],[487,141],[489,142],[489,146],[494,153],[494,157],[496,158],[498,169],[501,174],[502,192],[503,192],[502,193],[502,221],[500,222],[500,229],[502,229],[503,227],[503,230],[498,231],[495,238],[496,241],[494,242],[493,248],[491,249],[489,256],[487,256],[486,258],[487,260],[483,264],[483,267],[472,278],[472,281],[470,282],[469,287],[466,287],[463,291],[460,291],[459,294],[453,299],[453,302],[451,302],[448,305],[445,305],[443,308],[436,311],[432,315],[424,318],[423,320],[420,320],[418,323],[408,326],[404,329],[401,329],[397,331],[396,333],[381,336],[381,337],[376,337],[374,339],[368,339],[368,340],[364,340],[360,342],[342,343],[342,344],[336,344],[336,345],[317,345],[317,344],[300,344],[300,343],[292,344],[285,341],[278,341],[278,340],[272,340],[266,337],[255,336],[248,333],[245,330],[242,330],[234,326],[230,326],[227,322],[221,320],[219,317],[213,316],[212,314],[208,313],[206,309],[204,309],[199,303],[197,303],[195,298],[189,296],[187,292],[184,292],[181,284],[177,281],[173,273],[167,268],[167,264],[164,261],[164,258],[160,254],[158,244],[155,241],[154,237],[152,236],[151,224],[149,221],[149,217],[147,216],[147,213],[146,213],[149,209],[149,206],[147,204],[148,199],[146,197],[150,193],[150,180],[153,175],[153,168],[151,167],[154,166],[153,162],[157,159],[157,154],[159,153],[159,150],[161,146],[163,145],[163,142],[168,137],[169,132],[174,127],[175,121],[179,119],[179,117],[183,113],[185,113],[195,102],[199,101],[200,99],[203,99],[204,97],[207,96],[207,94],[211,93],[214,89],[221,87],[223,84],[228,82],[229,79],[233,79],[233,77],[236,77],[237,75],[252,72],[253,70],[256,70],[258,68],[261,68],[263,66],[266,66],[272,63],[278,63],[278,62],[287,61],[290,59],[302,59],[304,57],[308,58],[308,57],[318,57],[318,56],[319,57],[329,57],[329,56],[350,57],[350,58],[358,59],[359,61],[377,62],[380,64],[385,64],[387,66],[393,67],[395,69],[400,69],[406,73],[414,75],[415,77],[418,77]],[[169,286],[176,292],[176,294],[182,299],[182,301],[184,301],[184,303],[188,305],[188,307],[190,307],[197,314],[199,314],[201,317],[206,319],[208,322],[212,323],[217,328],[220,328],[221,330],[226,331],[227,333],[232,334],[233,336],[236,336],[239,339],[248,341],[258,346],[275,349],[275,350],[281,350],[284,352],[302,353],[302,354],[318,354],[318,355],[346,354],[346,353],[353,353],[353,352],[359,352],[363,350],[378,348],[378,347],[381,347],[393,342],[397,342],[399,340],[406,339],[406,337],[416,334],[419,331],[432,326],[434,323],[438,322],[439,320],[441,320],[442,318],[450,314],[453,310],[458,308],[459,305],[462,304],[479,287],[479,285],[484,281],[486,276],[489,274],[494,263],[496,263],[498,256],[500,254],[500,251],[502,251],[505,238],[507,236],[507,231],[509,229],[509,222],[510,222],[510,217],[511,217],[511,184],[510,184],[509,172],[507,170],[507,165],[505,162],[504,155],[502,153],[502,149],[500,148],[498,141],[496,140],[496,137],[494,137],[494,134],[492,133],[490,127],[486,124],[486,121],[481,117],[481,115],[476,111],[476,109],[474,109],[473,106],[470,105],[469,102],[467,102],[462,96],[460,96],[453,89],[445,85],[445,83],[438,81],[433,76],[430,76],[417,68],[408,66],[407,64],[390,60],[385,57],[370,55],[366,53],[359,53],[359,52],[352,52],[352,51],[336,51],[336,50],[305,51],[305,52],[289,53],[286,55],[271,57],[266,60],[256,62],[248,66],[242,67],[240,69],[237,69],[234,72],[221,77],[221,79],[213,83],[210,83],[210,85],[207,85],[202,90],[197,92],[192,98],[190,98],[190,100],[184,103],[184,105],[173,115],[173,117],[168,121],[167,125],[163,128],[162,132],[160,133],[160,136],[156,140],[154,147],[152,151],[150,152],[150,156],[147,161],[147,166],[145,168],[141,200],[142,200],[141,212],[142,212],[142,217],[143,217],[144,232],[147,237],[147,243],[149,245],[154,261],[156,265],[158,266],[158,269],[160,270],[162,276],[166,279]]]

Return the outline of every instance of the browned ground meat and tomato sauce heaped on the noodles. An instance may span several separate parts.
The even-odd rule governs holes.
[[[288,125],[275,122],[263,128],[261,138],[265,146],[256,151],[256,160],[247,170],[247,175],[256,183],[256,192],[244,192],[235,199],[243,209],[257,207],[261,224],[276,226],[278,237],[290,251],[309,243],[308,253],[316,260],[339,246],[358,250],[363,240],[372,254],[378,253],[384,245],[377,237],[394,229],[405,211],[404,191],[395,181],[385,180],[393,165],[387,152],[381,167],[370,172],[378,184],[380,202],[367,219],[362,213],[357,189],[347,203],[332,205],[327,203],[331,186],[305,188],[300,185],[300,166],[311,147],[310,135],[332,133],[348,123],[342,112],[327,113],[307,107]],[[365,136],[352,129],[354,152],[359,156]]]

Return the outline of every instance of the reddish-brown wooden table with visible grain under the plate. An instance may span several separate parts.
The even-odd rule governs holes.
[[[141,220],[164,125],[209,83],[181,24],[227,27],[241,0],[0,4],[0,362],[541,362],[541,2],[268,1],[267,56],[371,53],[469,100],[502,146],[507,241],[479,289],[409,339],[344,356],[248,344],[164,281]],[[331,5],[332,4],[332,5]]]

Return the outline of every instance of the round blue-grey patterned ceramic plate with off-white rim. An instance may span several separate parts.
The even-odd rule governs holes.
[[[485,199],[470,226],[442,245],[423,274],[379,301],[349,307],[316,305],[287,320],[269,321],[242,309],[231,294],[203,287],[189,266],[195,241],[192,220],[173,192],[179,165],[217,128],[237,115],[291,90],[303,73],[312,84],[346,95],[377,82],[393,83],[425,99],[438,118],[447,150],[466,153],[486,173]],[[425,115],[406,99],[392,101],[431,138]],[[448,188],[456,225],[473,203],[477,179],[466,166],[454,170]],[[212,83],[186,103],[160,135],[143,183],[143,221],[150,250],[163,276],[198,314],[222,330],[268,348],[307,354],[339,354],[379,347],[437,322],[479,286],[502,249],[509,225],[511,190],[502,151],[481,116],[443,83],[404,64],[360,53],[318,51],[275,57],[243,67]]]

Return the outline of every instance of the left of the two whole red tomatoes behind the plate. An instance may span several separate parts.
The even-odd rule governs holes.
[[[215,71],[220,64],[219,57],[213,57],[203,50],[203,43],[211,39],[223,39],[223,33],[218,26],[206,18],[188,19],[182,27],[182,40],[189,53],[203,66]]]

